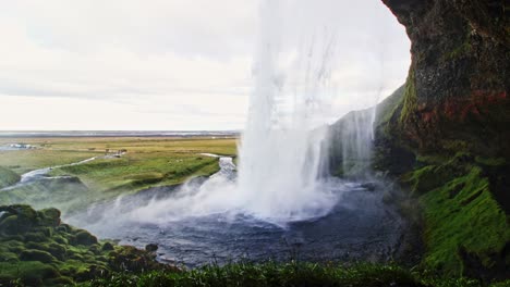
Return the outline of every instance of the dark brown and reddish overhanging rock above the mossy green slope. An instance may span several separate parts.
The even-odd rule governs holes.
[[[411,39],[393,129],[421,152],[509,158],[510,7],[500,0],[382,0]]]

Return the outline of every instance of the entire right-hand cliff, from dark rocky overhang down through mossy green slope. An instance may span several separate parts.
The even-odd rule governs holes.
[[[427,270],[510,274],[510,5],[382,0],[405,26],[403,95],[376,120],[374,166],[422,210]]]

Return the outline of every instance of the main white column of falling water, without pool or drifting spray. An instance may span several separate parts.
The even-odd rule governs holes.
[[[328,212],[321,189],[320,115],[335,52],[335,33],[319,24],[300,45],[286,38],[284,2],[265,1],[255,59],[255,89],[240,149],[239,189],[244,209],[257,216],[303,219]],[[314,26],[315,25],[315,26]],[[286,41],[287,40],[287,41]],[[303,45],[304,43],[304,45]],[[292,50],[292,58],[283,53]],[[324,121],[324,120],[323,120]]]

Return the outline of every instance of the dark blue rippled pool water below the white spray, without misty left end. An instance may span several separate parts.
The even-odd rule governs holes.
[[[159,245],[159,259],[186,265],[232,259],[307,261],[386,260],[399,244],[401,223],[377,195],[352,190],[321,219],[281,227],[253,217],[223,214],[166,225],[126,224],[100,234],[122,244]],[[100,232],[100,230],[98,230]]]

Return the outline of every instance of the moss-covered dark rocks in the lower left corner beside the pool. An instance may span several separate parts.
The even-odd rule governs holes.
[[[111,272],[166,270],[155,253],[100,242],[60,220],[60,211],[0,207],[0,286],[72,285]]]

